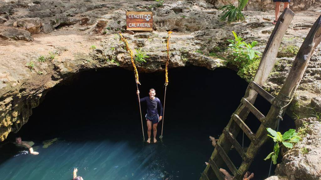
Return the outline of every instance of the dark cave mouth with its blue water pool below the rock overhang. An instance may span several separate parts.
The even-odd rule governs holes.
[[[141,97],[154,88],[163,103],[164,72],[140,73],[140,81]],[[17,156],[18,149],[5,144],[0,174],[4,179],[60,180],[71,178],[73,168],[78,168],[84,179],[198,179],[213,152],[208,136],[218,138],[222,133],[246,88],[247,83],[230,69],[170,69],[163,143],[144,144],[133,71],[78,73],[49,91],[19,131],[22,140],[32,140],[40,154]],[[260,96],[255,106],[265,115],[270,108]],[[144,116],[143,103],[142,111]],[[294,127],[288,116],[284,121],[281,130]],[[250,114],[247,124],[256,130],[259,121]],[[160,131],[161,124],[158,139]],[[7,141],[14,136],[11,133]],[[42,147],[43,141],[53,138],[58,141]],[[246,137],[245,147],[249,143]],[[270,161],[263,159],[272,149],[269,141],[250,167],[259,179],[268,175]],[[231,150],[229,155],[239,166],[237,152]]]

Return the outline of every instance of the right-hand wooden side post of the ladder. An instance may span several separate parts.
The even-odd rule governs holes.
[[[277,126],[277,118],[280,113],[279,106],[282,106],[282,111],[284,112],[288,105],[291,102],[291,97],[293,96],[296,88],[299,86],[299,83],[303,77],[304,71],[308,66],[308,62],[310,60],[311,55],[313,54],[314,49],[321,42],[321,15],[314,23],[304,42],[302,43],[299,52],[293,62],[292,68],[288,77],[286,78],[279,94],[274,99],[272,103],[271,109],[266,115],[267,121],[270,122],[269,127],[275,129]],[[255,145],[251,143],[248,150],[247,155],[250,158],[254,158],[260,146],[265,143],[265,141],[269,138],[267,136],[266,127],[261,124],[259,129],[256,132],[256,137],[261,140],[260,144]],[[271,147],[272,151],[272,147]],[[239,168],[239,172],[247,171],[250,164],[243,162]]]

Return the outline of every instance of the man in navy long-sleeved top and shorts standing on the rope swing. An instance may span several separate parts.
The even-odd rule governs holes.
[[[137,95],[138,94],[139,94],[139,91],[137,91]],[[147,114],[145,116],[147,120],[147,135],[148,135],[147,143],[151,143],[152,126],[153,126],[153,134],[154,134],[154,143],[157,142],[156,140],[157,123],[163,117],[163,106],[160,102],[160,99],[155,97],[155,95],[156,95],[155,89],[150,89],[149,97],[146,96],[140,99],[140,102],[145,101],[147,105]],[[160,116],[158,116],[158,110],[160,110]]]

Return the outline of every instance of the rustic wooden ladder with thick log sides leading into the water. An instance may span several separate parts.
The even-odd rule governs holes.
[[[275,25],[266,45],[258,70],[256,71],[256,75],[253,81],[249,83],[245,92],[245,96],[241,99],[239,107],[231,115],[228,125],[224,128],[223,134],[216,143],[212,156],[209,159],[209,164],[202,173],[200,180],[212,180],[217,178],[219,180],[225,180],[219,169],[219,167],[221,167],[224,163],[232,172],[234,180],[242,180],[254,157],[256,156],[257,151],[268,139],[266,128],[276,128],[277,119],[282,117],[282,113],[286,109],[287,105],[291,102],[291,97],[299,86],[299,82],[303,77],[304,71],[308,65],[308,61],[314,49],[321,41],[321,16],[317,19],[306,39],[302,43],[301,48],[299,49],[299,52],[293,62],[290,73],[278,95],[273,97],[261,86],[266,81],[274,66],[282,37],[288,29],[293,16],[294,12],[288,8],[286,8],[280,16],[279,21]],[[265,100],[271,103],[271,108],[266,116],[264,116],[259,110],[256,109],[256,107],[253,106],[257,94],[260,94]],[[253,113],[261,122],[261,125],[256,133],[254,133],[245,123],[249,112]],[[244,134],[247,135],[247,137],[251,140],[247,151],[245,151],[236,140],[236,136],[239,134],[240,130],[242,130]],[[230,151],[232,145],[243,159],[243,162],[239,168],[236,168],[228,156],[228,152]],[[217,178],[215,178],[215,176]]]

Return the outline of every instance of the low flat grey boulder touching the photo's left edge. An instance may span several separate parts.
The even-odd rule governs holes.
[[[33,37],[30,35],[30,32],[15,28],[0,29],[0,37],[4,39],[33,41]]]

